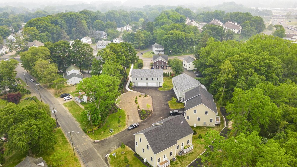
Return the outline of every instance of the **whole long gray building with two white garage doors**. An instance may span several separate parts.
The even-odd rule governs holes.
[[[132,69],[131,82],[136,87],[159,87],[163,84],[162,69]]]

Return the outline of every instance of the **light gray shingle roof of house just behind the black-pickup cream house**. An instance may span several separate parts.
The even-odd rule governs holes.
[[[199,80],[196,80],[185,73],[173,77],[172,81],[179,92],[202,85]]]

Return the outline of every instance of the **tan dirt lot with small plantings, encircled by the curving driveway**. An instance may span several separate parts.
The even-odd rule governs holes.
[[[140,118],[137,112],[137,104],[135,103],[135,97],[137,96],[137,102],[140,109],[147,109],[146,104],[151,105],[150,110],[153,109],[152,97],[143,95],[139,98],[139,92],[127,92],[121,95],[119,107],[126,112],[126,127],[135,122],[140,122]]]

